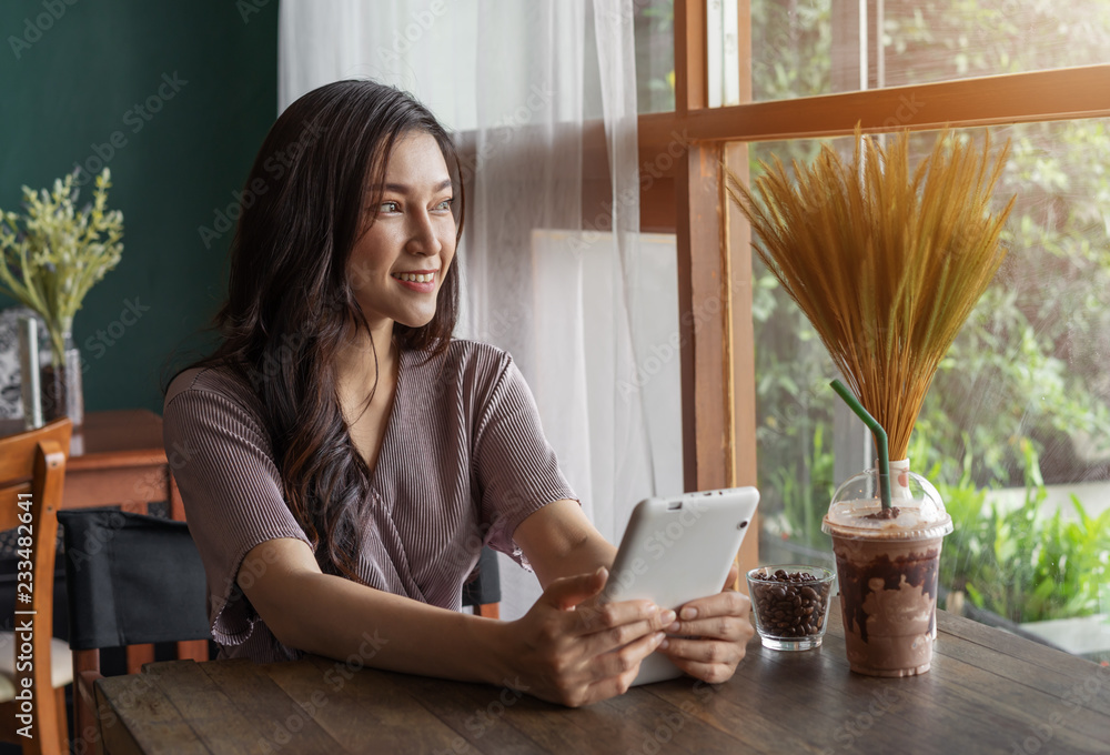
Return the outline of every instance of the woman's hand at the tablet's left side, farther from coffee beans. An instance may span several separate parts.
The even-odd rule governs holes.
[[[606,580],[604,567],[555,580],[526,615],[506,624],[511,674],[528,694],[569,707],[623,694],[663,641],[675,612],[648,601],[598,605]]]

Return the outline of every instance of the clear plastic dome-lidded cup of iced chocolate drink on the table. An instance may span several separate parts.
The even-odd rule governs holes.
[[[837,489],[821,530],[833,536],[848,664],[869,676],[929,671],[937,636],[937,577],[952,519],[937,489],[890,462],[891,506],[869,470]]]

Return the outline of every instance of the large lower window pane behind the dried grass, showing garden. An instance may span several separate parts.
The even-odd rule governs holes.
[[[1017,203],[1009,252],[929,390],[910,442],[915,471],[956,522],[941,605],[1110,658],[1110,120],[990,130],[1011,151],[996,191]],[[982,139],[981,129],[959,138]],[[916,158],[935,133],[912,137]],[[851,139],[830,140],[850,157]],[[751,144],[808,162],[816,141]],[[834,473],[831,361],[756,264],[760,558],[820,561]],[[828,555],[826,555],[828,554]]]

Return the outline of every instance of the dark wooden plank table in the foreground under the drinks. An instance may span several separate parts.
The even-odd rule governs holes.
[[[105,752],[1110,753],[1110,667],[938,612],[930,673],[859,676],[834,613],[819,650],[755,641],[726,684],[675,680],[577,711],[360,658],[150,664],[98,682]]]

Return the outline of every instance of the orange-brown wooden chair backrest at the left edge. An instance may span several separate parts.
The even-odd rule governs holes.
[[[72,424],[69,419],[0,437],[0,530],[17,530],[16,701],[34,691],[30,701],[31,736],[41,752],[61,752],[53,685],[50,681],[50,637],[53,634],[54,543],[57,513],[62,502],[65,460]],[[23,575],[27,574],[28,577]],[[20,663],[30,642],[31,663]],[[18,719],[22,726],[22,718]]]

